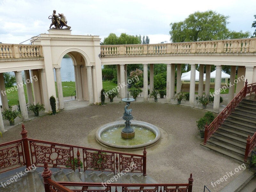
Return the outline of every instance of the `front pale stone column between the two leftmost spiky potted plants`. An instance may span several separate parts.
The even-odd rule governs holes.
[[[22,121],[28,121],[28,110],[25,99],[25,92],[22,82],[21,71],[15,71],[16,84],[18,86],[18,97],[20,101],[20,111],[22,114]]]

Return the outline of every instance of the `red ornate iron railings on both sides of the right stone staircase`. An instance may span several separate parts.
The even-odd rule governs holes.
[[[236,97],[221,111],[221,113],[212,121],[211,124],[205,125],[204,131],[204,145],[206,145],[207,140],[210,139],[212,134],[217,131],[221,124],[227,119],[227,117],[235,110],[237,105],[246,97],[248,94],[256,94],[256,83],[247,85],[247,79],[244,88],[236,95]],[[244,155],[244,161],[247,162],[247,157],[252,152],[253,148],[256,146],[256,132],[250,138],[247,138],[246,150]]]

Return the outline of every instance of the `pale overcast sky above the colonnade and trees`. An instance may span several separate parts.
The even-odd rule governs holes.
[[[19,44],[48,33],[54,9],[66,16],[72,35],[99,35],[101,41],[126,33],[148,36],[151,44],[170,42],[171,22],[207,10],[229,16],[230,30],[252,34],[255,7],[255,0],[0,0],[0,42]]]

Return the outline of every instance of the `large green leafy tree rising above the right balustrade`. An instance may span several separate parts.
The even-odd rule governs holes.
[[[228,16],[221,15],[212,10],[206,12],[195,12],[190,14],[184,21],[171,23],[171,41],[211,41],[227,38],[247,38],[250,32],[243,33],[229,31]]]

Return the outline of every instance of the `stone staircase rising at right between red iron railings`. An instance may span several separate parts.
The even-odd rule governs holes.
[[[244,99],[224,121],[206,145],[201,147],[221,153],[243,164],[248,135],[256,132],[256,102]],[[248,162],[250,158],[248,157]]]

